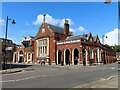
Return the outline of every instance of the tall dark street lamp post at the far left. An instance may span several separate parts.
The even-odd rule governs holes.
[[[4,56],[4,62],[3,62],[3,70],[6,69],[6,47],[7,47],[6,41],[7,41],[8,21],[9,21],[9,20],[12,20],[12,24],[15,24],[15,23],[16,23],[14,19],[10,19],[10,18],[8,18],[8,16],[7,16],[7,19],[6,19],[6,32],[5,32],[5,47],[4,47],[4,48],[5,48],[5,56]]]

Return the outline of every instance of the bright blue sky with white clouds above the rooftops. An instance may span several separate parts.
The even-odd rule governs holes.
[[[112,2],[2,2],[2,35],[5,36],[6,17],[15,19],[16,24],[9,20],[8,38],[20,44],[23,36],[35,36],[46,14],[46,22],[62,27],[68,19],[70,31],[74,35],[91,32],[98,35],[104,44],[118,44],[118,4]],[[102,42],[101,42],[102,43]]]

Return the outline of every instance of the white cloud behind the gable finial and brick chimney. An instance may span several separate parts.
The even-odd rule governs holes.
[[[65,19],[55,19],[52,16],[50,16],[49,14],[46,14],[45,17],[45,22],[53,24],[53,25],[59,25],[59,26],[64,26],[64,20]],[[67,20],[69,21],[69,24],[72,25],[73,21],[70,18],[67,18]],[[43,15],[40,14],[37,16],[37,20],[35,22],[33,22],[34,25],[40,25],[43,22]]]

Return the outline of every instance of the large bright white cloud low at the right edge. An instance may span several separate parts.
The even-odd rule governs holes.
[[[118,28],[115,28],[113,31],[106,33],[107,38],[104,38],[104,44],[118,45],[118,34],[120,35],[120,31],[119,33],[118,31]]]

